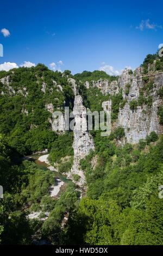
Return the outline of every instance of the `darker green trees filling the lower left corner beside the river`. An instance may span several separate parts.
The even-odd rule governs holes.
[[[0,199],[0,241],[2,244],[32,244],[45,239],[59,244],[64,237],[61,222],[67,212],[73,211],[78,202],[78,192],[69,182],[59,199],[49,194],[54,185],[54,173],[41,170],[35,163],[23,161],[15,163],[15,151],[8,145],[4,136],[0,136],[0,180],[4,189]],[[17,155],[18,156],[18,155]],[[40,212],[39,218],[49,217],[44,222],[30,220],[30,212]],[[4,214],[5,213],[5,214]]]

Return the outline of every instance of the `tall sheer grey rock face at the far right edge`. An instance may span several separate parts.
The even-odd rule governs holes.
[[[158,107],[162,105],[162,100],[158,95],[158,90],[163,84],[163,73],[153,74],[153,89],[146,96],[152,97],[152,106],[145,104],[137,106],[132,111],[129,106],[131,100],[137,100],[140,95],[140,90],[145,86],[143,82],[141,68],[136,69],[136,76],[131,80],[126,73],[122,74],[120,78],[120,87],[123,90],[123,98],[126,98],[127,103],[118,113],[117,125],[122,126],[126,133],[126,139],[129,143],[138,143],[140,139],[145,139],[146,136],[155,131],[160,134],[163,132],[162,125],[159,124],[159,117],[157,115]],[[150,78],[150,77],[149,77]],[[124,89],[126,84],[130,81],[129,95],[126,96]]]

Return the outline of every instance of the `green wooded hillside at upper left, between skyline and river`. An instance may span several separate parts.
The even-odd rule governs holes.
[[[57,136],[51,130],[52,113],[47,111],[46,105],[52,103],[54,111],[64,106],[72,110],[74,96],[67,75],[38,64],[32,68],[0,71],[1,78],[6,76],[9,86],[0,83],[0,132],[22,155],[51,149]]]

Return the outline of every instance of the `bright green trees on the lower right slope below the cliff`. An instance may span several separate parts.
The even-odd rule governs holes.
[[[154,132],[150,137],[156,140]],[[82,160],[87,197],[69,218],[70,244],[162,245],[158,186],[163,184],[163,137],[145,150],[142,143],[122,148],[101,141],[96,153]],[[91,167],[92,154],[98,154],[96,169]]]

